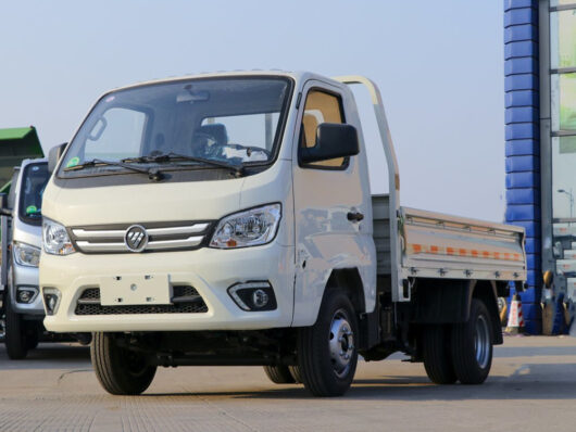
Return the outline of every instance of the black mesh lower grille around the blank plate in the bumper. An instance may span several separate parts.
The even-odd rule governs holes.
[[[181,302],[178,302],[178,298]],[[100,289],[83,291],[76,304],[76,315],[142,315],[142,314],[203,314],[208,306],[198,291],[190,285],[174,287],[173,305],[123,305],[102,306]],[[177,302],[177,303],[176,303]]]

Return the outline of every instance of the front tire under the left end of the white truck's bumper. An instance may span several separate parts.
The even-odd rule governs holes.
[[[142,393],[156,372],[140,353],[120,347],[113,333],[93,333],[90,357],[98,381],[114,395]]]

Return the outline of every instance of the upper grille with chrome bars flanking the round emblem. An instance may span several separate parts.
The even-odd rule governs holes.
[[[212,227],[211,221],[150,223],[71,227],[74,246],[86,254],[132,252],[125,242],[126,231],[138,225],[146,231],[146,246],[138,252],[181,251],[201,247]]]

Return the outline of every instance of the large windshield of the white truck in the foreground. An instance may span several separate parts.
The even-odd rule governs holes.
[[[109,93],[78,130],[59,176],[128,171],[110,164],[83,166],[95,160],[158,165],[163,170],[222,169],[199,160],[233,166],[266,164],[276,152],[290,87],[287,78],[234,77]],[[154,158],[167,154],[191,157]]]

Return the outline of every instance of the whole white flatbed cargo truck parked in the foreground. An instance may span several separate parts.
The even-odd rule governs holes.
[[[379,142],[364,140],[352,85]],[[390,191],[372,195],[383,152]],[[478,384],[502,343],[497,297],[526,278],[522,228],[400,206],[380,94],[360,76],[122,88],[49,161],[45,325],[93,332],[112,394],[143,392],[159,366],[252,365],[335,396],[359,354],[395,352],[434,382]]]

